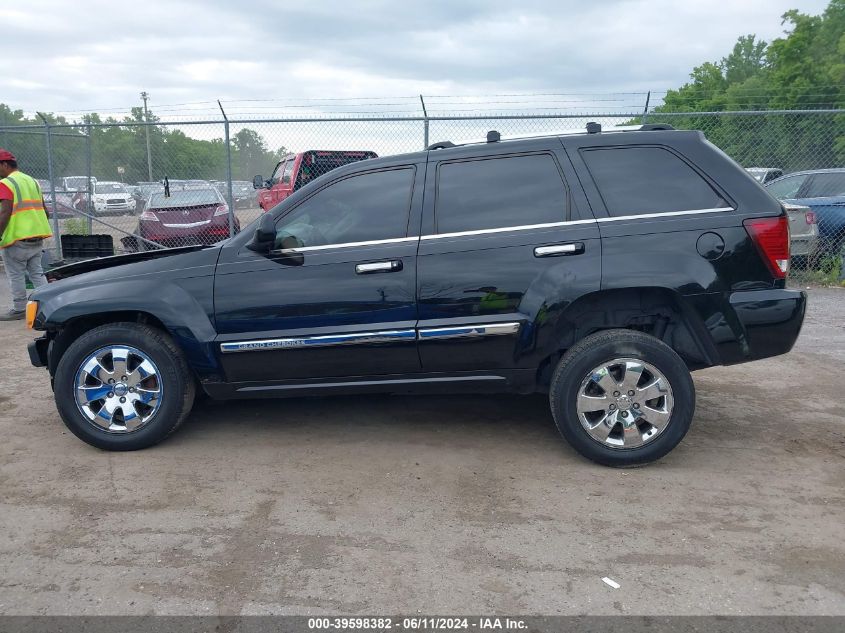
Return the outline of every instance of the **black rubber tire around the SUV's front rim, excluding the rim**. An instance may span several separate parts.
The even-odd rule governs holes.
[[[112,433],[89,420],[75,397],[80,366],[97,350],[127,345],[146,354],[158,368],[162,398],[159,409],[135,431]],[[62,420],[79,439],[110,451],[134,451],[158,444],[185,420],[194,402],[194,377],[181,350],[161,330],[138,323],[109,323],[75,340],[62,355],[54,378],[56,406]]]

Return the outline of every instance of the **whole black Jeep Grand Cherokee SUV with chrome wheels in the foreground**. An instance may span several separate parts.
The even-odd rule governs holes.
[[[58,269],[30,357],[82,440],[153,445],[217,399],[548,392],[602,464],[693,417],[690,370],[792,347],[780,204],[699,132],[455,146],[322,176],[221,244]]]

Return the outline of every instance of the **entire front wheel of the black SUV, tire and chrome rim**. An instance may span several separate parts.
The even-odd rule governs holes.
[[[56,368],[56,406],[79,439],[131,451],[162,441],[194,401],[182,352],[161,330],[137,323],[96,327],[74,341]]]

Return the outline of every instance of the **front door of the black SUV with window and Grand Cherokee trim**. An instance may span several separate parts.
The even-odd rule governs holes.
[[[343,176],[283,205],[270,254],[223,249],[214,302],[228,381],[419,371],[414,284],[424,177],[425,163]]]

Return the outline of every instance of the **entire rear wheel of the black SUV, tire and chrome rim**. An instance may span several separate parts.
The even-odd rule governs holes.
[[[686,435],[695,386],[681,357],[659,339],[607,330],[564,354],[549,400],[575,450],[605,466],[637,466],[660,459]]]

